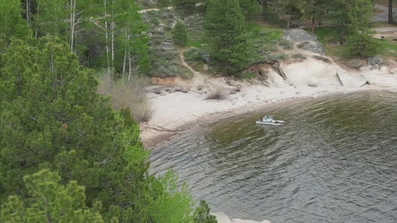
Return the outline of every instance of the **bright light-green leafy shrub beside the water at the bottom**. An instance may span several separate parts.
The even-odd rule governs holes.
[[[149,215],[152,222],[190,223],[192,199],[186,184],[177,186],[178,178],[171,170],[164,177],[148,181],[148,194],[152,194]]]

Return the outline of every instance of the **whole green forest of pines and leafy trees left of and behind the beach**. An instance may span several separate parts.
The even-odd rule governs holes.
[[[246,23],[258,13],[266,22],[284,21],[285,29],[308,21],[313,34],[322,21],[337,24],[347,55],[376,55],[374,3],[158,0],[148,6],[202,16],[205,50],[217,71],[232,76],[264,60]],[[110,81],[136,80],[165,66],[141,12],[148,6],[0,0],[0,222],[216,222],[208,204],[196,204],[172,171],[149,173],[150,151],[132,111],[142,104],[115,106],[111,96],[98,94],[98,73]],[[170,38],[179,48],[192,45],[182,20]]]

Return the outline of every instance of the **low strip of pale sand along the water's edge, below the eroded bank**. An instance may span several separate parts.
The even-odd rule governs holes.
[[[222,119],[227,119],[230,117],[243,115],[245,113],[260,112],[269,108],[270,106],[279,106],[280,104],[292,103],[297,100],[304,100],[317,97],[328,97],[338,94],[354,94],[359,92],[367,91],[389,91],[395,90],[395,87],[376,87],[374,85],[364,85],[359,88],[344,88],[339,86],[324,86],[324,87],[264,87],[262,85],[250,85],[246,86],[241,90],[241,92],[229,96],[233,96],[235,100],[239,100],[238,105],[233,104],[233,100],[228,100],[228,98],[222,100],[205,100],[202,95],[197,92],[173,92],[166,95],[151,95],[150,98],[152,104],[154,105],[154,115],[146,124],[141,124],[141,138],[146,148],[152,150],[163,143],[170,141],[175,136],[182,135],[188,130],[202,127],[208,123],[213,123],[216,121],[221,121]],[[268,97],[262,100],[256,98],[258,94],[255,95],[256,103],[252,103],[253,100],[244,100],[247,95],[250,95],[252,99],[252,91],[265,90]],[[281,93],[280,93],[281,92]],[[260,92],[258,92],[260,93]],[[299,93],[299,94],[297,94]],[[186,100],[186,98],[196,98],[193,102],[195,106],[202,108],[209,108],[204,112],[202,110],[196,111],[194,113],[189,113],[189,107],[187,104],[181,102],[179,106],[173,106],[172,102],[181,99],[181,101]],[[178,118],[168,119],[168,115],[164,112],[166,108],[156,103],[156,101],[162,101],[165,104],[170,103],[173,110],[179,111]],[[255,102],[255,101],[254,101]],[[210,104],[210,106],[206,105]],[[194,110],[194,109],[193,109]],[[175,114],[177,115],[177,114]],[[162,120],[161,125],[154,124],[156,121]],[[154,125],[154,126],[153,126]]]

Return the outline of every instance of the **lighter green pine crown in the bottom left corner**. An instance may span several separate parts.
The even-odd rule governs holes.
[[[85,205],[85,188],[76,181],[66,185],[48,169],[23,177],[29,199],[11,195],[1,206],[4,223],[104,223],[95,208]],[[95,204],[99,206],[100,203]]]

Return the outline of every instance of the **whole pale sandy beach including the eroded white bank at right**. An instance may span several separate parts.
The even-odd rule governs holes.
[[[223,78],[211,79],[213,86],[222,85],[228,92],[225,98],[219,100],[208,100],[208,93],[196,90],[199,85],[197,80],[193,80],[190,89],[186,91],[149,93],[154,112],[148,123],[141,124],[141,138],[146,148],[153,148],[187,129],[247,112],[260,111],[274,106],[275,103],[327,94],[393,90],[397,87],[397,75],[389,67],[381,67],[375,71],[369,67],[347,71],[334,62],[313,59],[280,64],[280,67],[288,81],[268,69],[270,86],[235,82],[233,85],[241,85],[241,89],[235,91],[233,86],[225,84]],[[202,77],[197,79],[202,80]]]

